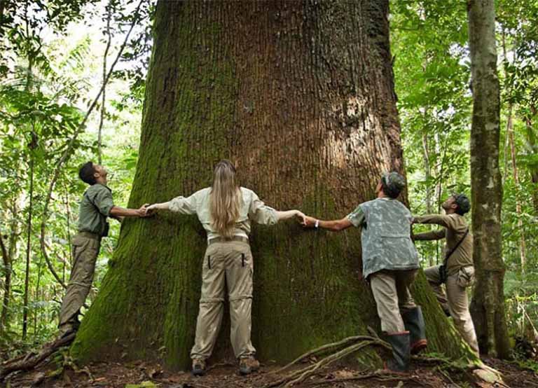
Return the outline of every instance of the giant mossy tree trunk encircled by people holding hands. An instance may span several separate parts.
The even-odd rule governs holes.
[[[379,0],[159,1],[130,207],[209,185],[221,158],[277,209],[333,219],[373,198],[380,172],[403,169],[387,13]],[[378,327],[358,230],[255,226],[251,246],[261,359]],[[75,356],[125,352],[185,368],[205,247],[195,217],[126,221]],[[432,350],[467,354],[427,290],[420,277]],[[228,344],[223,328],[215,357]]]

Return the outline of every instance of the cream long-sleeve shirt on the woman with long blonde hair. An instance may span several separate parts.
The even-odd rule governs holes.
[[[239,212],[239,219],[235,223],[234,235],[248,237],[251,227],[250,220],[263,225],[277,223],[277,213],[272,207],[266,206],[254,191],[240,188],[243,198]],[[202,188],[190,197],[176,197],[170,201],[169,209],[181,214],[196,214],[207,232],[207,240],[221,237],[212,228],[211,212],[209,210],[209,193],[211,188]]]

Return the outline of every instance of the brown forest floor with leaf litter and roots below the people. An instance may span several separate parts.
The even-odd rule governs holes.
[[[488,366],[499,370],[504,379],[503,384],[478,382],[472,373],[462,370],[443,370],[431,362],[413,361],[411,373],[406,376],[372,375],[371,371],[360,371],[340,364],[332,368],[319,370],[305,382],[294,387],[430,387],[430,388],[464,388],[464,387],[538,387],[538,374],[522,369],[513,363],[497,359],[484,359]],[[76,368],[77,369],[77,368]],[[53,363],[35,370],[12,375],[5,382],[6,388],[21,387],[69,387],[69,388],[257,388],[268,387],[271,382],[284,377],[271,373],[276,366],[262,365],[261,370],[247,377],[238,375],[237,366],[232,363],[220,363],[209,366],[203,377],[193,377],[190,373],[170,373],[158,364],[133,363],[93,363],[81,370],[64,367],[56,377],[46,377],[55,370]],[[368,375],[370,377],[368,377]]]

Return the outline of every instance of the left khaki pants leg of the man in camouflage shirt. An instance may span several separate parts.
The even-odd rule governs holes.
[[[379,271],[373,273],[370,275],[370,286],[381,320],[381,330],[389,334],[405,331],[406,328],[403,325],[398,307],[394,272]]]

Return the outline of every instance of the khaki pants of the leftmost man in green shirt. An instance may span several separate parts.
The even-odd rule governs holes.
[[[92,286],[100,244],[93,233],[79,232],[73,238],[73,268],[60,309],[60,335],[78,328],[78,313]]]

